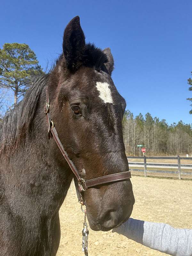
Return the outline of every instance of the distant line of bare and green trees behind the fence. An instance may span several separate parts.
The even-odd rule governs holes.
[[[168,125],[165,119],[159,120],[149,113],[134,118],[127,110],[123,118],[123,137],[127,155],[138,156],[139,147],[146,148],[146,155],[192,154],[192,125]]]

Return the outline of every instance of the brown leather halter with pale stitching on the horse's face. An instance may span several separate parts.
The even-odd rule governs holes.
[[[131,172],[127,171],[127,172],[118,172],[118,173],[114,173],[114,174],[109,174],[106,176],[102,176],[99,178],[95,178],[95,179],[91,179],[91,180],[84,180],[83,178],[81,178],[77,172],[77,169],[75,167],[75,165],[73,164],[73,162],[71,161],[71,159],[68,157],[67,152],[64,150],[63,145],[58,137],[57,131],[55,129],[54,123],[51,119],[51,115],[50,115],[50,105],[49,105],[49,94],[48,94],[48,87],[47,87],[47,102],[46,105],[44,107],[44,113],[46,114],[46,120],[47,120],[47,130],[48,133],[50,134],[50,136],[52,135],[53,138],[55,139],[62,155],[64,156],[65,160],[67,161],[71,171],[74,173],[76,179],[74,179],[75,181],[75,185],[76,185],[76,193],[77,193],[77,198],[79,200],[79,203],[83,204],[83,199],[82,199],[82,191],[85,191],[87,188],[91,188],[97,185],[102,185],[105,183],[110,183],[113,181],[120,181],[120,180],[127,180],[131,178]]]

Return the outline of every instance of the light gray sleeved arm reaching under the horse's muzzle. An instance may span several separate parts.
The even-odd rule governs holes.
[[[192,229],[129,219],[112,232],[173,256],[192,256]]]

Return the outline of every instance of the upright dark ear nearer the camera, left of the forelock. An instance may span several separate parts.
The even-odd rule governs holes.
[[[69,69],[80,66],[85,47],[85,36],[79,16],[73,18],[65,28],[63,35],[63,53]]]

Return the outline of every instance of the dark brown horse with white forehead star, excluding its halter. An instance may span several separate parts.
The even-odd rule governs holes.
[[[47,132],[47,92],[54,126],[81,177],[128,170],[122,135],[126,103],[111,78],[110,49],[85,43],[78,16],[65,28],[62,45],[54,68],[31,80],[0,127],[1,256],[55,256],[59,247],[59,209],[74,174]],[[132,213],[129,179],[82,194],[93,230],[108,231]]]

